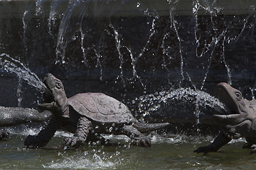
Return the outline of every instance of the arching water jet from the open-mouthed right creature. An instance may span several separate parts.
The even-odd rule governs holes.
[[[180,88],[171,91],[161,91],[155,94],[149,94],[136,98],[132,103],[139,103],[139,113],[143,116],[154,114],[161,106],[182,101],[183,103],[192,103],[196,106],[196,118],[199,123],[199,113],[203,108],[213,108],[220,113],[227,113],[228,108],[221,103],[218,98],[210,96],[205,91],[193,90],[191,88]]]

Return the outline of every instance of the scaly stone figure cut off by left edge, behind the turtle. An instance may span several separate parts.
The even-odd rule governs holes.
[[[50,119],[51,115],[50,111],[0,106],[0,127],[9,127],[29,122],[41,123]],[[9,132],[0,130],[0,140],[8,135]]]

